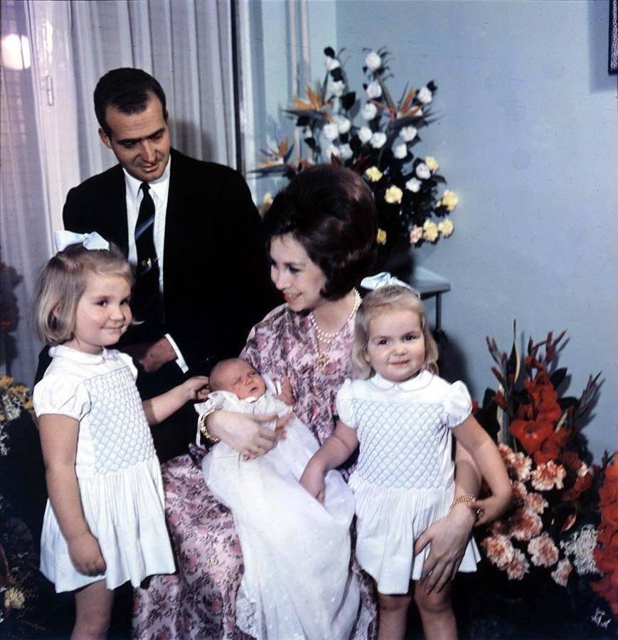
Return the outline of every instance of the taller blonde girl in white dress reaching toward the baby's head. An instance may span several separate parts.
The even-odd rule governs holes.
[[[75,592],[72,637],[101,638],[116,587],[175,570],[149,425],[205,398],[208,379],[142,402],[131,358],[107,348],[132,321],[129,263],[98,234],[57,232],[56,246],[36,294],[53,358],[33,391],[49,496],[41,572]]]

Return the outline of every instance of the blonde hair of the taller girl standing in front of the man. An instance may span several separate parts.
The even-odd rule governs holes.
[[[127,259],[115,245],[85,249],[80,243],[58,252],[38,277],[33,325],[38,338],[50,345],[75,337],[75,313],[86,289],[88,274],[118,275],[133,286]]]

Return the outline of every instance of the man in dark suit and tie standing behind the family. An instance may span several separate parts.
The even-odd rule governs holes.
[[[63,220],[97,231],[136,265],[132,307],[143,323],[120,348],[146,399],[237,356],[272,306],[261,221],[240,174],[171,149],[165,95],[149,74],[106,73],[95,112],[119,164],[71,189]],[[161,462],[186,453],[195,434],[191,406],[154,427]]]

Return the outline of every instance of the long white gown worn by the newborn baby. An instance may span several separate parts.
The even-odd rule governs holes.
[[[257,400],[215,391],[202,407],[290,411],[269,391]],[[360,605],[350,570],[354,496],[339,471],[326,476],[324,505],[309,495],[298,481],[319,444],[296,417],[285,429],[276,447],[253,460],[220,442],[202,462],[209,488],[233,513],[243,548],[236,624],[259,639],[347,640]]]

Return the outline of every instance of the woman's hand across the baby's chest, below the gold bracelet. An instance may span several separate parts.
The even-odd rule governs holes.
[[[270,451],[284,436],[284,427],[275,432],[267,426],[262,426],[276,419],[276,413],[246,415],[219,410],[206,418],[206,425],[213,436],[222,439],[225,444],[229,444],[232,449],[248,459]]]

